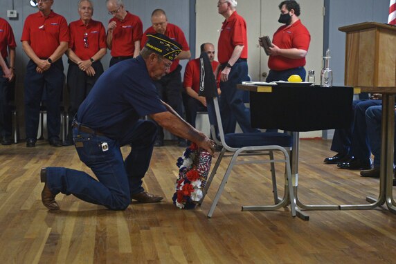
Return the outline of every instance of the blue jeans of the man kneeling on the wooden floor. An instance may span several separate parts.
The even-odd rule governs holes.
[[[108,209],[126,209],[131,196],[144,191],[142,179],[150,164],[155,136],[156,124],[150,120],[138,120],[119,142],[73,129],[75,149],[80,160],[91,168],[98,180],[84,171],[48,167],[48,188],[53,194],[73,194]],[[107,150],[103,143],[107,143]],[[131,144],[132,149],[123,160],[120,147],[125,144]]]

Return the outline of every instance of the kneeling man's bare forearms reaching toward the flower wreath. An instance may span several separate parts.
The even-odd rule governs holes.
[[[170,131],[172,134],[181,138],[195,142],[198,147],[208,151],[210,155],[215,156],[215,142],[210,140],[204,133],[193,128],[190,124],[184,121],[177,113],[165,102],[163,105],[168,109],[166,112],[154,113],[150,115],[152,119],[157,122],[164,129]]]

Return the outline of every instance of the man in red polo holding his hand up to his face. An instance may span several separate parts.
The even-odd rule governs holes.
[[[113,18],[107,26],[107,48],[111,50],[110,67],[141,52],[143,23],[125,10],[123,0],[106,0],[107,10]]]

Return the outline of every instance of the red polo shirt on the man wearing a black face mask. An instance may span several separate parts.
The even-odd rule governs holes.
[[[279,48],[298,48],[307,50],[311,35],[300,20],[292,23],[290,26],[281,26],[273,34],[272,43]],[[268,68],[271,70],[288,70],[305,66],[305,57],[301,59],[289,59],[283,56],[269,56]]]

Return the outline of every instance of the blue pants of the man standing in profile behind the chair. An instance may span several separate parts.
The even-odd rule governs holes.
[[[251,127],[250,109],[245,107],[243,101],[244,91],[237,89],[237,84],[248,79],[247,62],[237,62],[228,75],[228,81],[220,82],[222,95],[219,97],[219,107],[225,134],[235,133],[237,122],[244,133],[260,132]]]

